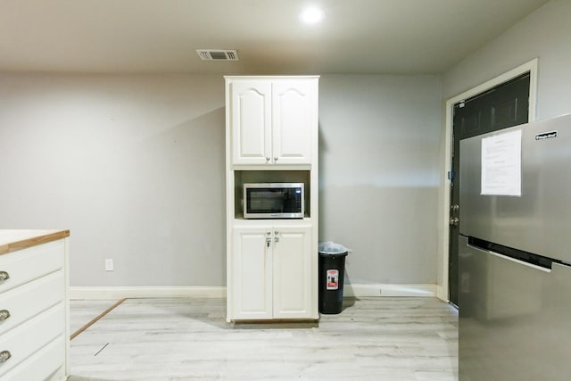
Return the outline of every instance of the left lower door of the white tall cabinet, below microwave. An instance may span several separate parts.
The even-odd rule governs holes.
[[[271,246],[271,228],[234,228],[230,319],[272,319]]]

